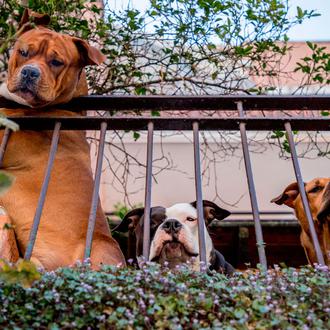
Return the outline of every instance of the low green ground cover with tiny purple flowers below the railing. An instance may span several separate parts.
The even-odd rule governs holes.
[[[0,282],[0,328],[325,329],[327,267],[188,270],[88,266],[44,273],[30,288]]]

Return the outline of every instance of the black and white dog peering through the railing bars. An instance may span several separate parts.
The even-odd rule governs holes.
[[[206,200],[203,201],[203,208],[208,267],[230,275],[235,271],[233,266],[225,261],[220,252],[214,249],[207,231],[207,227],[214,219],[222,220],[228,217],[230,212]],[[114,231],[129,232],[128,245],[131,250],[135,248],[135,257],[138,261],[142,256],[143,247],[143,214],[144,208],[130,211],[114,229]],[[196,202],[174,204],[168,208],[162,206],[152,207],[150,242],[149,261],[159,262],[160,264],[167,263],[170,268],[190,261],[192,268],[199,270]]]

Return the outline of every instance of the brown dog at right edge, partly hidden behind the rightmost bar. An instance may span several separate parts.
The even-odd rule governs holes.
[[[305,184],[309,207],[326,264],[330,265],[330,178],[316,178]],[[285,204],[295,210],[301,225],[300,241],[309,263],[317,262],[308,221],[304,212],[298,184],[291,183],[272,203]]]

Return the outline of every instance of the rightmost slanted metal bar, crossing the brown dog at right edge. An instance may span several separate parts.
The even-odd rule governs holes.
[[[317,234],[315,231],[315,227],[314,227],[313,217],[312,217],[312,214],[311,214],[311,211],[309,208],[307,195],[305,192],[305,185],[304,185],[301,171],[300,171],[300,166],[299,166],[298,157],[297,157],[297,151],[296,151],[296,147],[295,147],[294,140],[293,140],[291,124],[289,122],[286,122],[284,124],[284,126],[285,126],[285,130],[287,133],[287,138],[288,138],[288,142],[289,142],[289,146],[290,146],[292,164],[293,164],[294,172],[295,172],[295,175],[297,178],[301,200],[304,205],[304,210],[305,210],[305,214],[306,214],[306,217],[308,220],[309,230],[311,232],[313,245],[314,245],[315,252],[316,252],[317,262],[321,265],[325,265],[322,250],[320,248],[320,243],[319,243],[319,240],[318,240],[318,237],[317,237]]]

